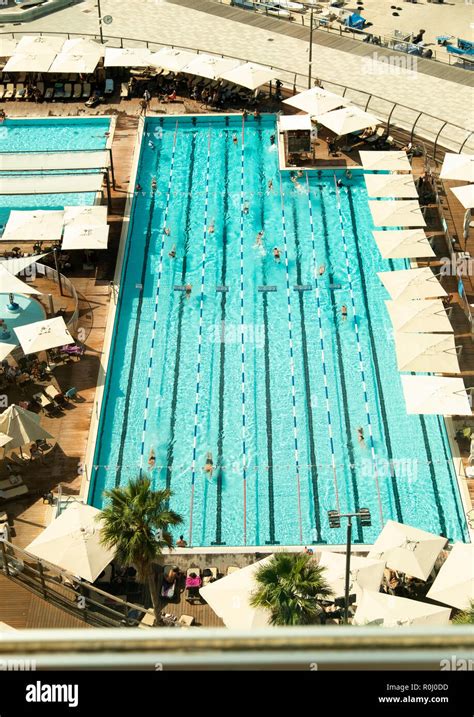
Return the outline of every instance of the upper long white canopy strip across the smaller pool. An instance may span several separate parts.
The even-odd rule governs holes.
[[[57,169],[105,169],[110,166],[106,150],[91,152],[2,152],[2,172],[47,172]],[[46,210],[47,211],[47,210]],[[51,211],[54,210],[49,210]]]

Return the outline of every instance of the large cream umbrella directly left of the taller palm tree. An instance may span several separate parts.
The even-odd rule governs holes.
[[[70,503],[26,551],[91,583],[114,558],[100,542],[102,511]]]

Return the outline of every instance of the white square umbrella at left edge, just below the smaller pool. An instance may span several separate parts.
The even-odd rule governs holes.
[[[63,231],[64,212],[54,209],[10,212],[2,241],[59,241]]]

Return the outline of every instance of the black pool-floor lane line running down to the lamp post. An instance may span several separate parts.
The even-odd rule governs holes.
[[[325,254],[328,257],[328,263],[330,264],[330,257],[331,257],[331,251],[330,251],[330,242],[329,242],[329,228],[328,228],[328,220],[327,220],[327,214],[326,214],[326,205],[324,203],[324,193],[323,193],[323,187],[319,185],[320,188],[320,196],[321,196],[321,219],[323,224],[323,239],[324,239],[324,249]],[[328,272],[328,282],[329,284],[335,283],[335,277],[332,272],[332,269]],[[339,369],[339,377],[340,377],[340,388],[341,388],[341,402],[343,406],[343,415],[344,415],[344,425],[346,428],[346,440],[347,440],[347,451],[348,451],[348,457],[349,457],[349,470],[351,474],[351,483],[352,483],[352,492],[354,495],[354,510],[358,511],[360,507],[360,500],[359,500],[359,486],[357,483],[357,473],[355,469],[355,454],[354,454],[354,443],[352,442],[352,431],[351,431],[351,422],[349,417],[349,399],[347,396],[347,383],[346,383],[346,374],[344,370],[344,362],[342,360],[342,343],[341,343],[341,336],[339,334],[339,331],[337,330],[337,319],[338,319],[338,308],[336,306],[336,299],[334,292],[329,289],[329,296],[331,300],[331,309],[332,309],[332,320],[333,325],[335,328],[335,338],[336,338],[336,353],[337,353],[337,364]],[[360,525],[360,521],[356,521],[357,524],[357,540],[354,540],[354,542],[363,543],[364,542],[364,535],[362,531],[362,527]]]

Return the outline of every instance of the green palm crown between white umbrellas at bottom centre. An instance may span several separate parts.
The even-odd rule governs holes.
[[[311,625],[318,621],[318,600],[332,595],[319,567],[306,553],[275,553],[255,574],[252,607],[270,610],[271,625]]]

